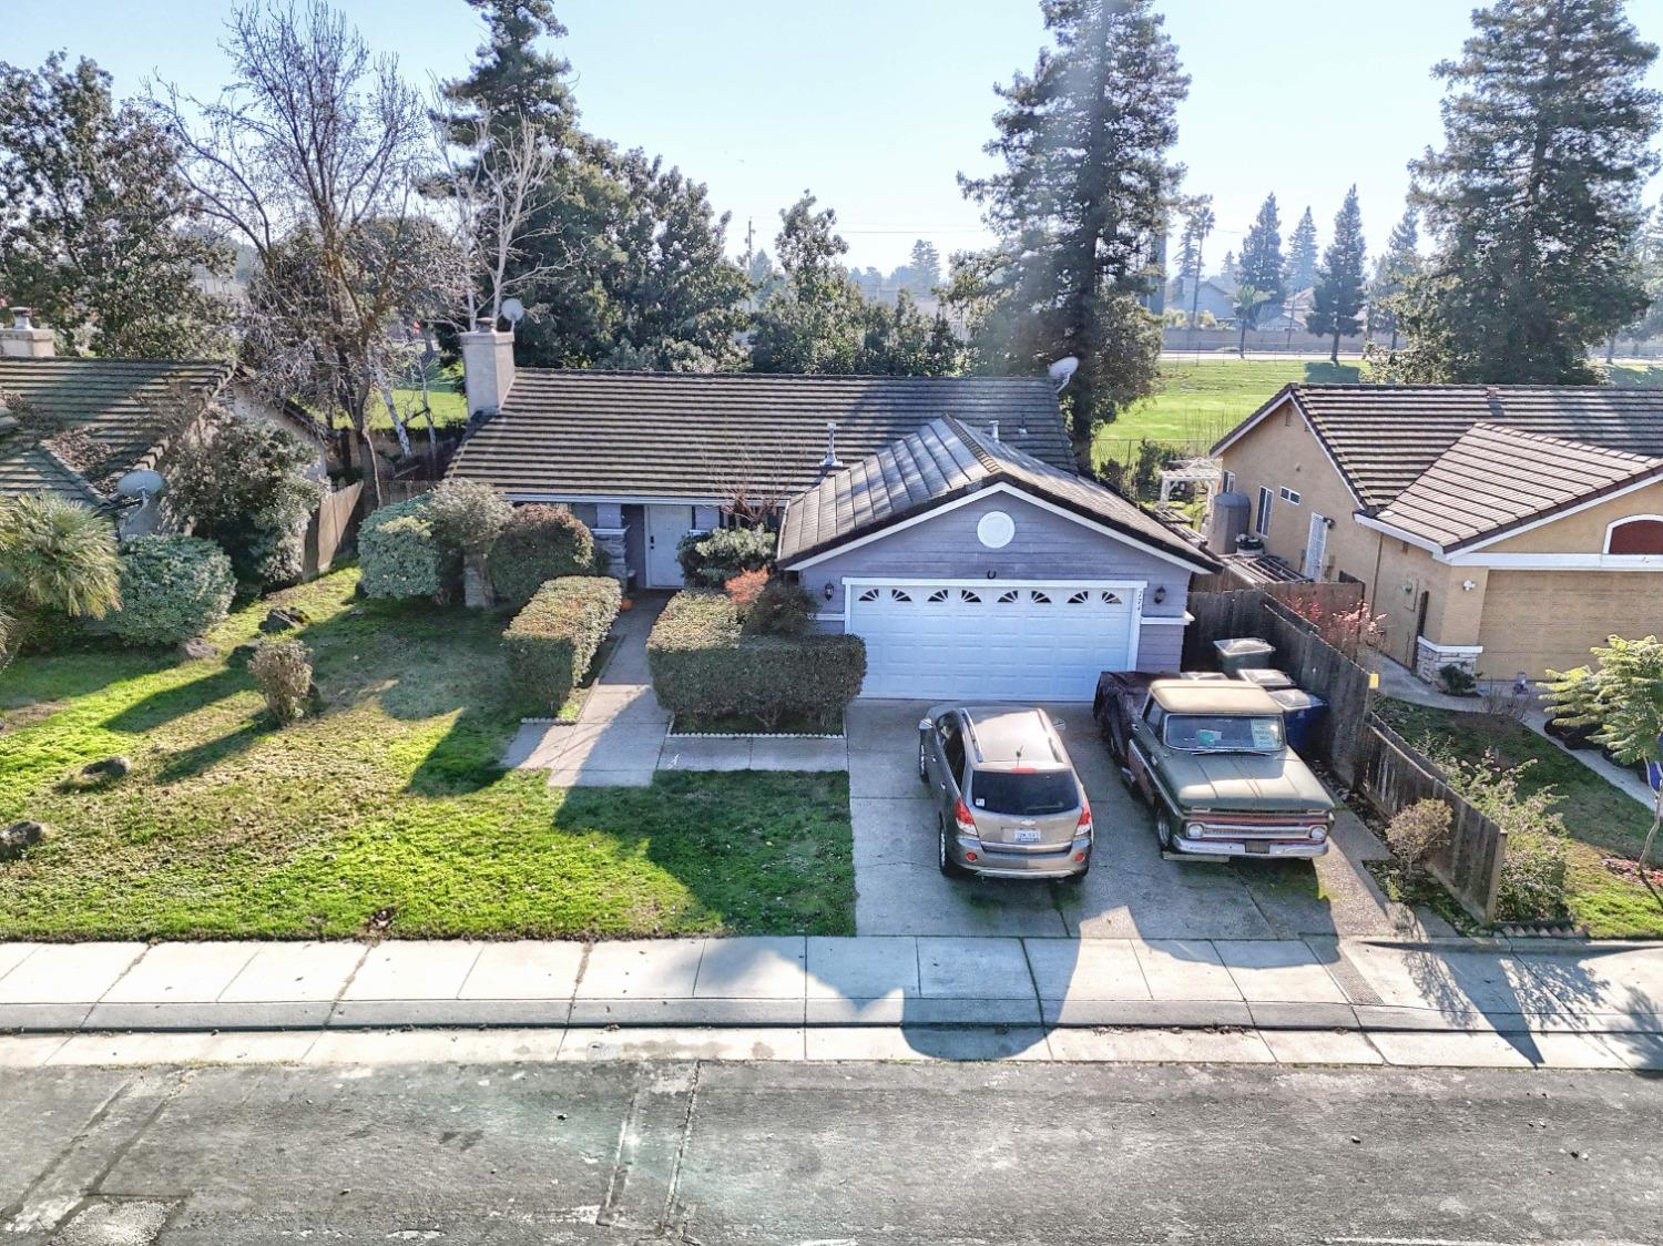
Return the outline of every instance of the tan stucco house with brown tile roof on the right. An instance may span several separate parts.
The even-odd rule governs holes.
[[[1267,552],[1360,581],[1422,679],[1663,630],[1660,391],[1290,384],[1212,452]]]

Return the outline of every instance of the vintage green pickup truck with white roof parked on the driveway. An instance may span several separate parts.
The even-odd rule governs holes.
[[[1320,857],[1334,802],[1287,747],[1282,710],[1237,680],[1106,672],[1093,715],[1167,852]]]

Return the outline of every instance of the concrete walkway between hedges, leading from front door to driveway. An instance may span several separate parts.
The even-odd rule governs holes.
[[[506,770],[547,770],[549,787],[649,787],[659,770],[845,770],[841,739],[669,739],[652,692],[647,634],[669,597],[644,596],[612,625],[619,645],[574,724],[522,724]]]

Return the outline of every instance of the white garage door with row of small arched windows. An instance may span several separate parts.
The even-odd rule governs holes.
[[[1136,660],[1141,586],[1086,581],[850,582],[863,697],[1091,700]]]

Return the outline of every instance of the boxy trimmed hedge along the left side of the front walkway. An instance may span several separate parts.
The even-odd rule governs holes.
[[[565,576],[537,589],[502,634],[516,684],[559,710],[595,660],[622,599],[610,576]]]

